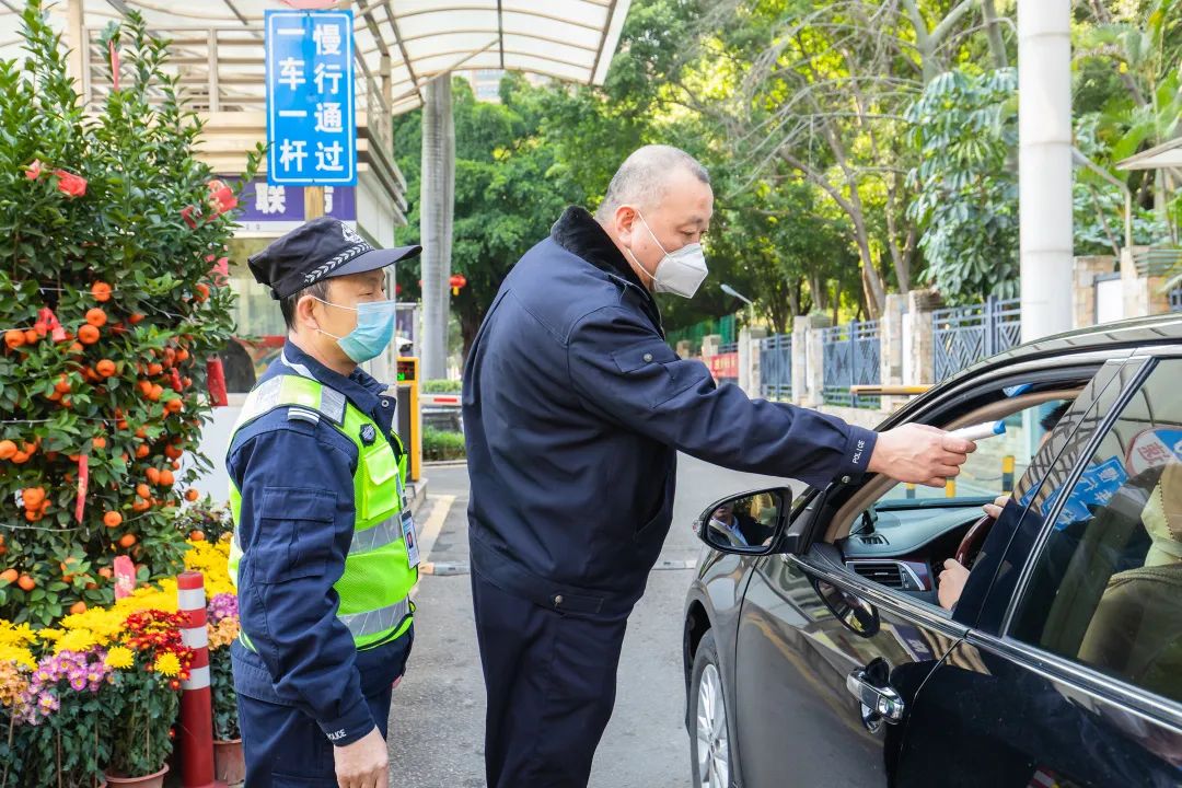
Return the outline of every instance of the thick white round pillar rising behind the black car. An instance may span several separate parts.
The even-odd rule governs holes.
[[[1018,0],[1022,341],[1071,328],[1071,0]]]

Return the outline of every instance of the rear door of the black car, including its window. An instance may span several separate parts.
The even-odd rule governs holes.
[[[975,626],[914,701],[897,784],[1182,784],[1182,358],[1117,380],[956,611]]]

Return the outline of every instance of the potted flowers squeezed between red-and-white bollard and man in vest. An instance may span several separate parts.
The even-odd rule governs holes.
[[[214,705],[214,777],[228,786],[246,780],[238,695],[229,647],[239,634],[238,597],[217,594],[206,610],[209,626],[209,675]]]

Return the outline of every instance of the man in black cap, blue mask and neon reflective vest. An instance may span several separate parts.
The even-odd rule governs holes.
[[[384,788],[394,683],[417,579],[395,399],[358,369],[394,334],[376,249],[322,217],[249,260],[287,324],[227,455],[242,636],[233,645],[246,784]]]

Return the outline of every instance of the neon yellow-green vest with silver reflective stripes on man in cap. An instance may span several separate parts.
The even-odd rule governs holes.
[[[382,435],[372,418],[349,403],[344,395],[318,380],[284,375],[266,380],[247,396],[230,436],[230,445],[239,430],[277,408],[291,408],[292,412],[307,411],[307,417],[312,419],[323,416],[357,448],[353,473],[356,520],[345,571],[333,584],[339,598],[337,619],[349,627],[358,649],[401,637],[410,627],[414,606],[409,593],[418,579],[417,569],[407,561],[402,534],[405,452],[401,451],[401,456],[395,454],[384,437],[365,445],[361,434],[368,431],[363,429],[366,425]],[[397,436],[392,437],[397,441]],[[235,523],[241,516],[241,502],[232,481],[230,510]],[[229,559],[230,579],[235,585],[243,554],[235,529]],[[245,632],[241,640],[254,650]]]

